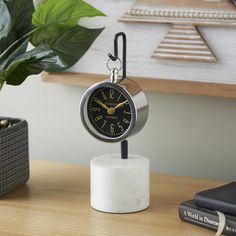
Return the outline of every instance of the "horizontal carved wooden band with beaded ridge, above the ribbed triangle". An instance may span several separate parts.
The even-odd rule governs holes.
[[[121,21],[236,26],[231,1],[137,0]]]

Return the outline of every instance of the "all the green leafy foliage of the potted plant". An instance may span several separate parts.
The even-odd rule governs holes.
[[[4,49],[0,55],[0,89],[5,82],[19,85],[29,75],[43,70],[51,72],[69,68],[85,54],[103,30],[77,25],[81,17],[104,15],[82,0],[48,0],[40,4],[33,14],[34,25],[29,21],[34,11],[33,0],[4,1],[4,12],[11,16],[11,27],[2,37],[6,44],[0,45],[0,50]],[[0,13],[4,6],[1,3],[4,4],[3,0],[0,0]],[[0,15],[0,20],[2,17]],[[6,27],[1,22],[0,27]],[[33,39],[30,38],[32,35]],[[36,42],[36,47],[25,52],[29,40]]]

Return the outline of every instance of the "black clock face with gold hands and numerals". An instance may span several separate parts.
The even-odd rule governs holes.
[[[93,127],[107,137],[123,135],[131,124],[131,107],[127,98],[114,88],[99,88],[88,100],[88,118]]]

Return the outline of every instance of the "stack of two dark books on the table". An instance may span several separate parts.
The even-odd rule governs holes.
[[[236,182],[198,192],[179,206],[181,220],[217,231],[218,212],[225,215],[224,235],[236,235]]]

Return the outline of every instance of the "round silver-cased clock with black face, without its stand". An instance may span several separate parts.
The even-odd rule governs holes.
[[[137,83],[104,81],[91,86],[80,103],[87,131],[106,142],[119,142],[139,132],[148,117],[148,101]]]

